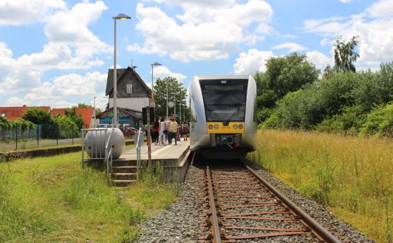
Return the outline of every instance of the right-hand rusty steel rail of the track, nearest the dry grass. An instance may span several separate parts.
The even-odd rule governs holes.
[[[279,192],[274,186],[269,184],[265,179],[257,175],[253,169],[244,164],[246,169],[257,179],[259,182],[263,184],[272,194],[277,197],[287,208],[289,208],[296,215],[301,217],[301,221],[303,221],[307,226],[311,228],[313,233],[321,240],[327,243],[340,243],[341,241],[333,236],[329,231],[327,231],[323,226],[321,226],[318,222],[316,222],[310,215],[301,210],[298,206],[296,206],[292,201],[290,201],[287,197],[285,197],[281,192]]]

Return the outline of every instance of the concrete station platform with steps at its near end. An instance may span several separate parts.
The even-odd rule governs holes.
[[[191,161],[189,141],[180,141],[178,145],[152,145],[152,165],[157,162],[162,168],[166,181],[182,182]],[[112,176],[116,186],[127,186],[136,179],[136,148],[127,149],[120,158],[112,162]],[[147,145],[141,147],[141,166],[148,164]]]

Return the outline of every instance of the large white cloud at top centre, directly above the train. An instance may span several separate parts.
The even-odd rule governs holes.
[[[248,28],[252,23],[267,24],[273,15],[270,5],[262,0],[220,8],[204,6],[197,1],[184,2],[187,6],[181,3],[183,1],[169,2],[186,9],[183,15],[176,15],[182,23],[179,24],[159,7],[137,4],[139,22],[136,29],[141,31],[145,41],[142,46],[129,45],[127,50],[169,55],[182,62],[225,59],[238,48],[238,44],[255,44],[263,39],[263,36],[251,33]]]

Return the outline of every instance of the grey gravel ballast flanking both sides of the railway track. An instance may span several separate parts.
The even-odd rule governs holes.
[[[197,161],[197,159],[195,160]],[[258,175],[266,179],[272,186],[281,191],[288,199],[307,212],[342,242],[374,242],[368,239],[362,232],[355,230],[348,223],[338,220],[320,204],[297,193],[259,166],[250,162],[246,163]],[[205,187],[202,177],[203,169],[202,163],[194,161],[190,165],[185,181],[180,184],[178,199],[168,210],[154,217],[150,217],[140,224],[141,230],[138,242],[192,243],[198,242],[200,236],[209,234],[209,228],[200,228],[200,224],[206,223],[206,220],[201,219],[199,216],[208,212],[207,196],[203,195]],[[250,222],[250,225],[254,223]],[[306,238],[308,239],[306,240]],[[288,237],[288,241],[285,239],[286,237],[272,237],[265,239],[264,242],[314,242],[313,239],[307,236]],[[247,240],[247,242],[261,242],[261,240]]]

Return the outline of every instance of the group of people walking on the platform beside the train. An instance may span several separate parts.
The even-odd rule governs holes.
[[[147,133],[147,125],[145,126],[145,131]],[[170,118],[161,118],[156,117],[154,124],[151,127],[151,138],[154,145],[166,145],[168,142],[169,145],[172,144],[172,140],[174,139],[174,145],[177,145],[177,142],[180,141],[180,137],[183,136],[184,141],[187,141],[187,138],[190,134],[190,127],[186,121],[181,124],[178,124],[174,117]]]

